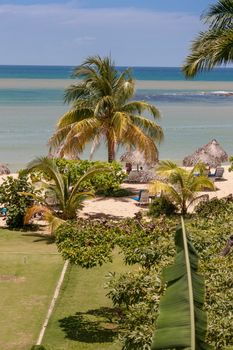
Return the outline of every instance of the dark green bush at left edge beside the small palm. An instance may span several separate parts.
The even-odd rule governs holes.
[[[11,228],[24,226],[24,215],[33,204],[32,198],[19,192],[35,192],[26,175],[19,174],[17,179],[8,176],[0,186],[0,203],[7,208],[6,223]]]

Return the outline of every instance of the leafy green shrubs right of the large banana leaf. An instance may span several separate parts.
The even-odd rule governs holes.
[[[230,204],[231,205],[231,204]],[[195,249],[200,256],[200,273],[206,282],[205,309],[208,313],[207,340],[216,350],[233,346],[233,281],[232,254],[221,253],[232,234],[232,214],[197,217],[188,224]]]

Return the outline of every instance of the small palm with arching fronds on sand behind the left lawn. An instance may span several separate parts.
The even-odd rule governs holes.
[[[109,168],[93,167],[72,186],[69,170],[66,174],[61,174],[53,159],[47,157],[36,158],[27,167],[27,172],[33,170],[39,170],[46,174],[51,181],[40,183],[40,187],[45,194],[44,197],[26,192],[21,193],[33,197],[38,203],[27,210],[24,223],[28,224],[36,213],[44,212],[45,219],[50,223],[52,231],[65,220],[75,219],[77,210],[82,207],[83,200],[94,196],[93,191],[80,189],[83,183],[99,172],[110,171]]]

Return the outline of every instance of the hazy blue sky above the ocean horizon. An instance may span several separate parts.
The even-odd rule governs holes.
[[[214,0],[0,0],[0,64],[179,66]]]

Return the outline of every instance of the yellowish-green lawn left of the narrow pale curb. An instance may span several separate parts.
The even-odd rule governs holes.
[[[55,244],[34,233],[0,229],[0,349],[31,348],[62,266]]]

